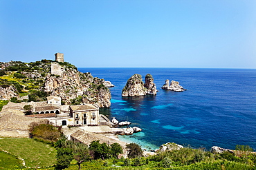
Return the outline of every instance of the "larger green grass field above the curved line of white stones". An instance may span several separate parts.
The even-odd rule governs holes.
[[[23,158],[27,167],[48,167],[56,164],[56,149],[30,138],[2,138],[0,150]]]

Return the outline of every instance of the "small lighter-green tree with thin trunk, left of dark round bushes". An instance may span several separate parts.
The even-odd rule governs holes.
[[[73,145],[73,158],[77,161],[78,169],[81,169],[81,163],[89,160],[89,149],[84,143],[75,142]]]

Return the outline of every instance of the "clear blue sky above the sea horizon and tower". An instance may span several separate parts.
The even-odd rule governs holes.
[[[0,61],[256,68],[255,0],[0,0]]]

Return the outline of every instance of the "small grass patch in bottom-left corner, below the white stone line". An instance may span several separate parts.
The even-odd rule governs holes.
[[[22,167],[22,161],[8,153],[0,151],[0,169],[12,169]]]

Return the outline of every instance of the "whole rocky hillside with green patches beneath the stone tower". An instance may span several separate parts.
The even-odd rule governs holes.
[[[71,63],[42,60],[30,63],[0,63],[0,98],[14,102],[62,98],[62,105],[80,103],[110,107],[111,94],[104,79],[78,72]]]

